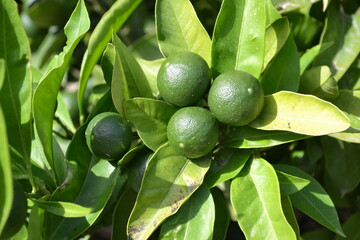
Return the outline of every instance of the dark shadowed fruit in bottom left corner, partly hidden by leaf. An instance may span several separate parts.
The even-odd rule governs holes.
[[[25,223],[27,216],[27,199],[20,183],[13,181],[13,203],[0,239],[8,239],[15,235]]]

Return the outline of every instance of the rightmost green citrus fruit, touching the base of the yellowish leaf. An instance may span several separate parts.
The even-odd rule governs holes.
[[[251,74],[229,71],[214,80],[209,90],[208,104],[220,122],[244,126],[260,114],[264,105],[264,91]]]

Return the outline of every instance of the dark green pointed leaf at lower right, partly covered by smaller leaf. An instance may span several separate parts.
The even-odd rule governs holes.
[[[288,165],[274,165],[275,169],[300,178],[308,179],[310,184],[290,195],[293,205],[331,231],[345,236],[341,229],[339,217],[329,195],[324,188],[310,175]]]

